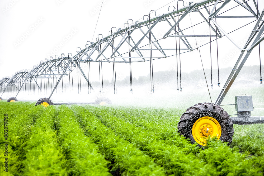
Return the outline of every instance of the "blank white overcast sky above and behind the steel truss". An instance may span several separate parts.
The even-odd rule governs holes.
[[[102,0],[1,0],[0,78],[11,76],[21,69],[29,69],[50,55],[53,57],[61,53],[74,55],[77,47],[83,49],[86,42],[92,40],[101,3]],[[93,41],[98,34],[106,36],[111,27],[122,28],[128,19],[139,20],[150,10],[157,10],[168,3],[176,6],[177,1],[104,0]],[[259,3],[262,9],[263,2]],[[157,14],[167,13],[169,5],[159,9]],[[228,27],[228,24],[225,27]],[[241,40],[246,38],[246,32],[242,31],[241,35]],[[60,43],[63,43],[63,46],[58,46]],[[231,58],[228,63],[225,63],[224,59],[230,53],[239,52],[235,51],[235,46],[230,42],[223,46],[225,51],[221,50],[220,53],[225,53],[225,56],[220,59],[220,68],[233,66],[237,57]],[[258,64],[257,55],[253,53],[252,56],[256,57],[252,57],[246,65]],[[205,63],[205,67],[209,68],[209,62]],[[216,68],[216,65],[213,67]],[[161,64],[154,72],[168,69],[171,69],[170,64]],[[197,65],[187,65],[183,62],[183,72],[193,69],[201,67],[197,68]],[[148,72],[139,74],[147,75]],[[133,76],[138,75],[134,72]]]

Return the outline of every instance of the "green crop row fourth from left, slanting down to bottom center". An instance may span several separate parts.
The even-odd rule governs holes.
[[[73,106],[72,109],[86,135],[91,137],[100,152],[111,162],[109,168],[113,175],[164,175],[162,167],[104,126],[92,113],[79,106]]]

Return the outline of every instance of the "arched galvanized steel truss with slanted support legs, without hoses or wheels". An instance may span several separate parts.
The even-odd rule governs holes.
[[[231,2],[235,2],[236,5],[231,4]],[[228,4],[230,7],[227,6]],[[232,9],[235,8],[242,8],[244,11],[241,10],[241,12],[235,12],[233,16],[225,15],[225,12],[232,11]],[[15,78],[13,76],[8,83],[0,82],[0,85],[1,88],[5,85],[6,89],[12,84],[13,80],[15,82],[20,81],[24,84],[26,81],[31,82],[34,79],[55,78],[56,84],[54,83],[53,91],[50,94],[51,97],[60,80],[72,72],[74,68],[77,68],[76,66],[80,69],[80,75],[82,73],[82,76],[91,86],[89,80],[81,70],[81,64],[83,63],[133,63],[167,58],[175,56],[176,51],[179,51],[177,53],[179,55],[201,47],[197,46],[197,44],[195,44],[196,42],[194,42],[198,37],[206,37],[208,39],[209,37],[217,37],[219,39],[226,36],[241,50],[241,55],[233,67],[227,82],[224,84],[218,99],[216,100],[216,104],[220,104],[252,49],[263,40],[263,10],[259,11],[259,9],[260,7],[257,8],[256,0],[203,0],[196,3],[191,2],[187,6],[181,8],[178,8],[177,4],[177,8],[174,8],[173,11],[169,11],[158,16],[153,16],[153,13],[149,13],[149,15],[146,15],[148,18],[145,20],[143,18],[143,21],[132,21],[132,24],[125,23],[127,25],[124,25],[124,28],[119,28],[116,31],[111,30],[109,31],[109,35],[106,37],[97,37],[96,42],[90,42],[90,45],[86,44],[84,49],[78,51],[77,48],[76,55],[74,56],[69,56],[68,54],[68,57],[64,57],[63,54],[63,56],[61,55],[61,57],[58,57],[58,55],[56,55],[55,59],[47,59],[37,66],[34,66],[33,69],[28,71],[28,73],[20,72],[21,74],[19,75],[21,76],[19,78],[14,75]],[[250,13],[250,15],[245,15],[246,12]],[[180,28],[181,24],[186,24],[185,21],[189,20],[188,16],[192,13],[195,13],[196,16],[195,20],[192,21],[195,22],[195,25],[190,25],[188,27],[183,25],[184,27]],[[225,31],[222,28],[223,26],[216,22],[216,18],[229,18],[234,19],[234,21],[238,18],[252,18],[251,22],[255,22],[255,26],[246,45],[243,48],[240,48],[237,42],[229,35],[230,33],[235,33],[238,28],[248,24],[237,22],[241,24],[241,26],[236,27],[236,30]],[[197,26],[200,28],[211,28],[212,34],[194,34],[192,31],[190,32],[190,30],[188,30]],[[165,34],[161,32],[160,29],[165,31]],[[174,42],[171,42],[171,39],[178,38],[181,41],[178,44],[181,43],[181,45],[184,46],[181,49],[175,47],[175,40]],[[154,56],[150,56],[149,53],[145,51],[153,52]]]

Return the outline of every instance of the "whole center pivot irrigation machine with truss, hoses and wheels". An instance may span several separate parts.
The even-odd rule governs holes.
[[[8,102],[12,102],[17,101],[16,97],[19,92],[27,91],[31,94],[32,92],[40,94],[46,91],[46,93],[50,93],[49,98],[39,99],[36,105],[71,104],[53,103],[50,99],[54,93],[66,91],[66,87],[69,88],[69,91],[73,91],[73,87],[76,85],[76,74],[73,76],[74,69],[77,70],[78,92],[81,91],[82,77],[88,85],[87,93],[90,93],[93,91],[91,67],[98,68],[99,66],[100,93],[103,92],[103,62],[109,63],[109,67],[112,67],[113,72],[111,71],[112,73],[109,74],[113,74],[114,93],[117,91],[116,63],[129,63],[130,92],[132,93],[132,73],[135,69],[132,63],[149,62],[150,91],[153,93],[153,60],[162,58],[176,59],[177,90],[182,91],[181,56],[183,57],[183,55],[181,54],[197,50],[199,59],[202,61],[200,47],[204,45],[210,45],[210,51],[207,53],[210,53],[211,87],[213,87],[212,47],[214,43],[217,51],[215,58],[217,58],[218,63],[218,40],[224,37],[230,44],[233,43],[241,54],[228,79],[223,84],[215,103],[199,103],[188,108],[178,123],[178,132],[199,145],[206,145],[205,139],[210,135],[230,144],[234,134],[234,123],[264,123],[264,116],[253,117],[250,115],[250,112],[253,111],[252,96],[235,97],[238,117],[229,117],[228,113],[220,107],[252,50],[257,47],[259,56],[261,55],[260,42],[264,39],[263,15],[264,9],[259,7],[258,0],[203,0],[190,2],[187,6],[182,0],[179,0],[177,7],[169,6],[168,12],[162,15],[156,16],[155,11],[150,11],[148,15],[144,15],[142,21],[128,20],[124,24],[124,28],[112,27],[108,36],[101,36],[100,38],[99,34],[96,42],[88,41],[84,49],[78,47],[74,56],[71,53],[67,56],[64,54],[55,55],[55,58],[45,59],[30,70],[20,70],[12,77],[1,79],[1,97],[5,92],[16,93],[15,97],[8,99]],[[225,24],[225,30],[222,28],[223,24]],[[248,25],[252,27],[251,31],[244,30]],[[161,33],[161,29],[165,32]],[[201,30],[199,29],[208,29],[209,34],[200,34]],[[244,46],[237,44],[232,39],[232,37],[239,38],[247,35],[247,42]],[[201,38],[206,41],[206,44],[199,46],[197,40]],[[82,69],[84,64],[87,65],[85,71]],[[260,81],[262,83],[261,63]],[[73,84],[73,82],[75,83]],[[220,86],[219,68],[218,86]],[[111,103],[111,101],[109,99],[97,99],[94,103],[104,104]]]

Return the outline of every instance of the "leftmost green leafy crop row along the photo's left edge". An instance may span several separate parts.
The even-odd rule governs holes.
[[[8,114],[8,121],[6,124],[8,127],[8,137],[7,140],[5,140],[2,135],[0,137],[0,159],[1,161],[4,161],[5,158],[8,158],[8,173],[6,173],[4,169],[1,169],[0,175],[20,175],[20,173],[23,172],[23,161],[25,160],[25,155],[27,153],[25,148],[26,141],[31,135],[32,126],[35,124],[36,120],[40,117],[43,111],[44,107],[35,108],[31,103],[1,103],[1,129],[4,131],[3,115]],[[6,141],[8,141],[8,152],[7,155],[4,156],[3,145],[6,144],[4,143]],[[3,162],[0,163],[1,168],[4,168],[3,164]]]

